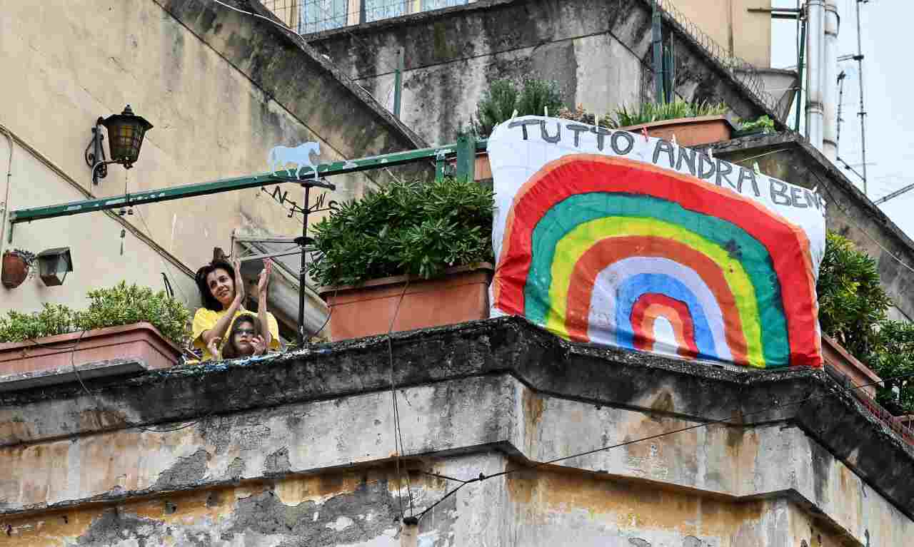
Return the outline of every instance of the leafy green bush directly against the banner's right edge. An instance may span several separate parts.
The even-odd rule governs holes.
[[[889,300],[879,284],[876,260],[845,237],[829,233],[816,292],[822,331],[862,361],[877,342]]]

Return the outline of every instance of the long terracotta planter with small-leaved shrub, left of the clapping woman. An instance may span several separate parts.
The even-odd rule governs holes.
[[[85,310],[46,303],[41,311],[0,317],[0,375],[124,360],[150,369],[178,362],[190,320],[181,302],[124,281],[87,296]]]

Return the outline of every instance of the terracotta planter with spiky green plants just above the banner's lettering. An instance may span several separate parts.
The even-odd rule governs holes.
[[[672,141],[675,135],[680,146],[698,146],[728,141],[734,131],[725,115],[724,103],[692,103],[674,100],[666,103],[645,102],[637,109],[618,108],[609,126],[622,131],[647,131],[652,137]]]

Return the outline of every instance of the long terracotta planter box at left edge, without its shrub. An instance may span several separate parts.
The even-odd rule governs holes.
[[[71,371],[74,365],[105,361],[133,360],[146,369],[166,368],[175,365],[180,355],[181,350],[153,325],[140,322],[86,331],[81,338],[80,332],[69,332],[34,342],[0,343],[0,380],[11,374]]]

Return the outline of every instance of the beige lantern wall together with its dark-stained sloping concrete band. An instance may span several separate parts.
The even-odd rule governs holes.
[[[264,10],[247,0],[235,4]],[[0,89],[0,124],[34,149],[16,145],[9,209],[66,203],[86,193],[120,195],[125,184],[136,191],[261,173],[278,144],[319,142],[323,160],[421,144],[298,37],[212,2],[9,2],[3,14],[0,71],[19,79]],[[93,187],[83,159],[90,127],[126,103],[154,129],[133,169],[112,165]],[[6,144],[0,152],[5,168]],[[39,158],[55,169],[39,165]],[[387,174],[336,179],[337,198],[360,195],[377,176]],[[6,181],[0,184],[5,191]],[[250,189],[136,207],[123,218],[135,232],[128,233],[123,256],[122,226],[103,214],[16,226],[12,244],[4,239],[0,249],[69,246],[76,271],[62,288],[46,289],[35,279],[0,289],[0,308],[81,305],[86,289],[114,279],[161,287],[156,254],[175,263],[165,271],[179,278],[186,300],[196,305],[188,275],[211,258],[213,247],[228,250],[234,227],[251,222],[274,234],[301,233],[297,218],[259,196]]]

